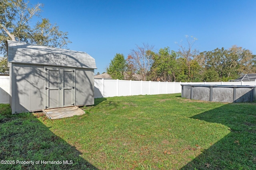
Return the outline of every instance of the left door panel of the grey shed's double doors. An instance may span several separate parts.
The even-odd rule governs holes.
[[[46,108],[60,107],[60,70],[46,69]]]

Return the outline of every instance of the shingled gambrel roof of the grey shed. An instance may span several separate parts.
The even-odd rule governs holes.
[[[97,68],[95,59],[85,52],[8,41],[8,62]]]

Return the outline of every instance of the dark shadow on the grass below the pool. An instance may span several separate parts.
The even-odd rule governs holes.
[[[227,104],[191,118],[220,123],[230,133],[186,164],[186,169],[256,169],[256,104]]]

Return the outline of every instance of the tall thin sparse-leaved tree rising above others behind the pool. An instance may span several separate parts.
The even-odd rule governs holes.
[[[186,35],[186,41],[187,45],[184,46],[181,43],[179,44],[179,51],[178,53],[180,54],[181,57],[183,57],[186,60],[186,66],[188,67],[188,80],[187,81],[192,81],[192,76],[191,76],[191,64],[193,59],[198,55],[198,50],[197,49],[192,49],[194,46],[194,43],[196,42],[196,38],[193,36],[188,36]]]

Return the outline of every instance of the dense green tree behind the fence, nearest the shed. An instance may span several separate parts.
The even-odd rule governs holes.
[[[126,71],[126,61],[124,59],[124,55],[116,53],[106,70],[113,79],[124,80],[124,73]]]

